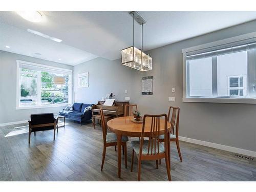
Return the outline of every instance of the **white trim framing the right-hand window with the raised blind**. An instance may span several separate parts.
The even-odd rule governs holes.
[[[215,98],[198,98],[189,97],[187,98],[187,63],[186,63],[186,53],[191,51],[199,51],[206,48],[224,46],[225,44],[236,43],[238,41],[247,41],[251,38],[256,38],[256,32],[247,33],[244,35],[239,35],[236,37],[226,38],[223,40],[218,40],[214,42],[209,42],[207,44],[194,46],[186,49],[182,49],[183,53],[183,102],[206,102],[206,103],[244,103],[244,104],[256,104],[256,98],[250,97],[215,97]]]

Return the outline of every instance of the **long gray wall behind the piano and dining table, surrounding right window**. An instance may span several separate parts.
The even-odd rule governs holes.
[[[127,69],[120,64],[120,59],[97,58],[82,63],[74,67],[75,84],[78,73],[89,71],[89,88],[75,89],[76,100],[95,103],[113,92],[117,100],[130,96],[142,114],[167,113],[169,105],[180,106],[180,136],[256,151],[256,105],[182,102],[182,49],[254,31],[256,21],[148,51],[153,57],[150,72]],[[154,93],[141,95],[141,77],[151,75]],[[175,93],[172,93],[173,87]],[[124,94],[124,90],[128,93]],[[170,96],[176,97],[176,101],[168,102]]]

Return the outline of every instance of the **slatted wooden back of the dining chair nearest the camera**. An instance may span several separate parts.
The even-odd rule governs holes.
[[[151,131],[148,136],[148,146],[147,146],[147,154],[146,155],[158,155],[159,154],[159,136],[160,134],[160,117],[164,118],[164,143],[167,143],[167,115],[144,115],[143,117],[143,125],[142,125],[142,133],[140,138],[140,153],[142,154],[143,142],[144,142],[144,130],[145,130],[145,122],[146,119],[151,119]],[[165,151],[166,152],[166,151]]]

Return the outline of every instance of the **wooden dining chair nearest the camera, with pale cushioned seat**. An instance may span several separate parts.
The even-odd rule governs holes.
[[[160,117],[164,117],[164,141],[165,141],[164,145],[158,139],[160,136]],[[144,137],[147,137],[144,134],[145,121],[146,119],[150,119],[150,118],[152,118],[150,135],[148,136],[148,140],[144,140]],[[167,115],[166,114],[144,115],[140,141],[131,141],[131,144],[133,148],[131,172],[133,172],[134,153],[136,153],[136,156],[138,158],[138,181],[140,181],[141,161],[156,160],[156,164],[158,168],[158,159],[163,159],[163,158],[165,158],[165,162],[166,162],[165,164],[166,164],[168,180],[171,181],[169,159],[168,159]]]

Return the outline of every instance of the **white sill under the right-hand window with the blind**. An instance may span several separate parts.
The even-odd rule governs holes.
[[[256,104],[256,98],[183,98],[182,102]]]

